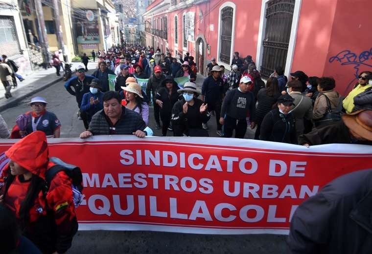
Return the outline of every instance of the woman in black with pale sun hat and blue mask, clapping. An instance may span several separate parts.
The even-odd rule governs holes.
[[[200,90],[195,83],[186,82],[184,88],[178,89],[182,99],[176,102],[172,109],[172,127],[174,136],[208,137],[208,131],[203,129],[210,116],[208,105],[197,97]]]

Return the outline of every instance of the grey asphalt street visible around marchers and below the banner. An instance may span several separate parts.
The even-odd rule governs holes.
[[[61,137],[77,137],[84,130],[82,121],[76,117],[77,104],[75,98],[59,82],[45,90],[32,95],[42,96],[48,102],[47,110],[54,112],[62,123]],[[9,127],[15,124],[18,115],[31,110],[27,104],[30,98],[24,99],[18,106],[1,112]],[[155,130],[153,110],[150,109],[149,126]],[[155,135],[160,135],[155,130]],[[168,131],[168,135],[172,133]],[[216,135],[215,119],[209,120],[209,135]],[[246,137],[252,137],[254,132],[248,129]],[[271,234],[246,235],[201,235],[186,233],[161,232],[119,232],[119,231],[79,231],[72,243],[69,254],[281,254],[287,253],[285,236]]]

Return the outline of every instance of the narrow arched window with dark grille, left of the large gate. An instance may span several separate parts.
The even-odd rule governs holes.
[[[220,61],[228,64],[230,64],[231,55],[232,15],[232,7],[225,7],[221,10]]]

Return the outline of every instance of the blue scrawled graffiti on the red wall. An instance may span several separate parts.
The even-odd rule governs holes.
[[[354,85],[354,83],[358,80],[360,68],[363,67],[363,70],[368,70],[368,68],[372,68],[372,48],[369,51],[363,51],[359,54],[359,56],[350,50],[344,50],[338,53],[336,56],[329,58],[329,63],[333,63],[337,61],[341,63],[341,65],[354,65],[355,73],[354,78],[348,84],[346,91],[350,90],[350,85]],[[362,70],[362,71],[363,71]]]

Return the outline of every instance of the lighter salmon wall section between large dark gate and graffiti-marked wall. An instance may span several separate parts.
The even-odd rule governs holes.
[[[291,72],[322,76],[331,40],[337,1],[303,0]]]

